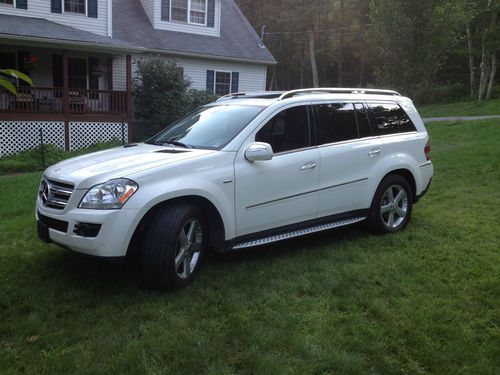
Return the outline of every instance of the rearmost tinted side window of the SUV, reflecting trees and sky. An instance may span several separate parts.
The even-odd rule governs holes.
[[[375,122],[377,135],[415,131],[406,112],[396,103],[368,103]]]

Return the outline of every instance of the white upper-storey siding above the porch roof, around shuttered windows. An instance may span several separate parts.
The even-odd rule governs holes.
[[[98,0],[98,18],[90,18],[74,13],[52,13],[49,0],[28,0],[28,9],[17,9],[12,5],[0,4],[0,13],[14,16],[45,18],[49,21],[89,31],[99,35],[108,35],[108,1]],[[43,32],[43,30],[40,30]]]

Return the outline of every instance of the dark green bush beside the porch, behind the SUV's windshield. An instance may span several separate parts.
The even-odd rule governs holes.
[[[135,117],[142,129],[134,138],[151,136],[200,105],[217,97],[198,90],[189,90],[190,81],[173,63],[160,58],[139,60],[138,78],[134,84]]]

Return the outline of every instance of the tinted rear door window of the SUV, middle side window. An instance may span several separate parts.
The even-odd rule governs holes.
[[[358,128],[351,103],[315,106],[318,111],[318,144],[358,138]]]

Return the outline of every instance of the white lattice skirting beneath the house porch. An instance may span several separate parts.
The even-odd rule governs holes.
[[[121,122],[70,122],[69,149],[78,150],[99,142],[127,142],[128,126]],[[64,149],[64,121],[0,121],[0,157],[17,154],[43,143]]]

